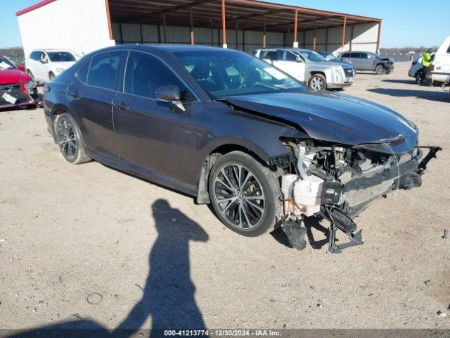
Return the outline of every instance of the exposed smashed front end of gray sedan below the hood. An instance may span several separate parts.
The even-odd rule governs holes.
[[[414,147],[395,154],[388,142],[343,146],[311,140],[284,139],[292,161],[281,177],[283,230],[296,249],[304,249],[304,217],[321,216],[330,222],[329,251],[364,244],[354,217],[373,200],[397,189],[419,187],[427,163],[441,148]],[[429,149],[423,157],[423,148]],[[420,161],[420,159],[422,161]],[[287,164],[287,163],[286,163]],[[349,242],[337,245],[336,230]]]

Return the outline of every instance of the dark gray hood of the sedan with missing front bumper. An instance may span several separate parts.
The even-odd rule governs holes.
[[[295,124],[313,139],[349,145],[392,142],[396,153],[411,151],[418,140],[416,125],[402,115],[354,96],[304,91],[222,99],[237,110]]]

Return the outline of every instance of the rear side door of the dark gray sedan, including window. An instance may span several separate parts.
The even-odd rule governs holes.
[[[66,90],[70,111],[77,119],[86,148],[103,156],[105,161],[119,158],[112,104],[126,54],[126,51],[97,54],[79,69]]]

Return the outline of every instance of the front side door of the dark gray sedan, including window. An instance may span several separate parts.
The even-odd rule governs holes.
[[[156,89],[167,85],[179,87],[184,111],[156,99]],[[200,101],[165,62],[130,51],[123,88],[113,102],[121,161],[147,170],[169,187],[192,184],[188,163],[195,158],[200,108]]]

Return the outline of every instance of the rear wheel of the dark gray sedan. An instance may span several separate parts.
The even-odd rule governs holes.
[[[66,161],[81,164],[91,161],[84,151],[84,144],[77,122],[69,113],[58,115],[55,120],[56,142]]]

